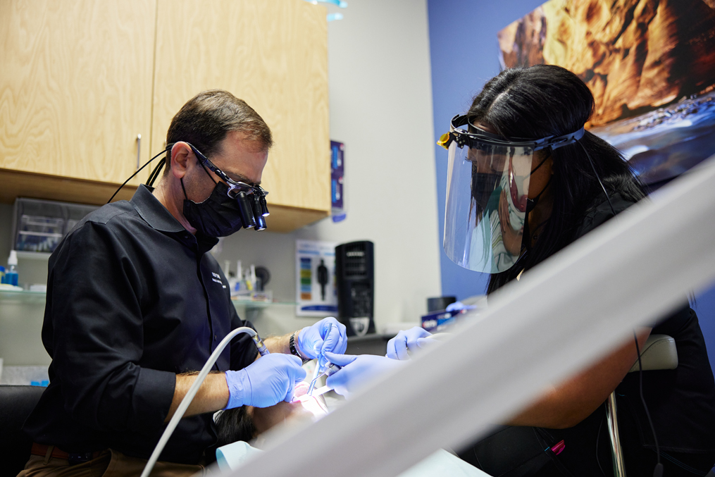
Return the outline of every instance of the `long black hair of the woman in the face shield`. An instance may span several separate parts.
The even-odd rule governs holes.
[[[576,74],[541,64],[506,69],[490,79],[473,99],[468,118],[472,124],[488,124],[506,138],[541,139],[581,129],[592,112],[593,95]],[[619,193],[633,202],[645,196],[628,162],[611,144],[588,131],[579,142],[547,150],[553,157],[551,216],[518,266],[491,275],[489,293],[576,240],[588,209],[606,198],[593,167],[609,195]],[[529,238],[524,241],[528,244]]]

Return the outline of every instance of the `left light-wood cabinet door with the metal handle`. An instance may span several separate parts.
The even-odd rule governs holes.
[[[145,162],[155,19],[156,0],[0,1],[0,169],[124,182],[137,134]]]

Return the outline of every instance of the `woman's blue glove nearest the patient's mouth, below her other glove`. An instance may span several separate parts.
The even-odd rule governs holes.
[[[380,375],[406,364],[377,355],[355,356],[325,353],[325,357],[330,363],[342,366],[337,373],[328,376],[325,384],[346,398],[350,396],[350,393],[355,393],[355,390],[362,388],[363,385],[379,378]]]

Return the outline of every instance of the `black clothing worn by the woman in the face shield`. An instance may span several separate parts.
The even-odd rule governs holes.
[[[611,202],[616,213],[633,203],[618,194],[611,195]],[[577,237],[612,217],[608,202],[592,207]],[[643,395],[661,449],[664,476],[702,476],[715,464],[715,380],[698,318],[693,310],[683,305],[655,323],[651,334],[673,337],[679,360],[675,370],[643,373]],[[641,403],[638,379],[637,372],[628,373],[616,388],[618,434],[626,475],[651,477],[656,452],[653,433]],[[558,456],[545,452],[562,440],[565,447]],[[505,476],[613,475],[605,405],[599,406],[573,428],[501,427],[493,436],[469,446],[460,457],[495,476],[500,472],[489,466],[507,471],[503,473]],[[688,466],[698,472],[691,473],[686,470]]]

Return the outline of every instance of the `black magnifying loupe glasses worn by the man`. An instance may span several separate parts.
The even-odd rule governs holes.
[[[218,177],[226,182],[226,195],[236,201],[243,228],[247,229],[252,227],[255,230],[265,230],[265,217],[270,214],[265,199],[268,192],[260,187],[260,185],[232,180],[225,172],[209,161],[208,157],[204,156],[204,154],[192,146],[192,144],[188,142],[187,144],[199,159],[199,164],[204,167],[204,170],[206,168],[211,169]],[[206,173],[208,174],[208,171]]]

